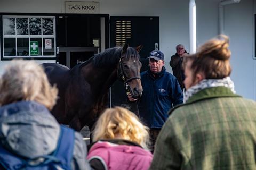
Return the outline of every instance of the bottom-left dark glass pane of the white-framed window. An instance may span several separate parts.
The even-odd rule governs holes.
[[[4,55],[15,56],[16,55],[16,40],[15,38],[4,38]]]

